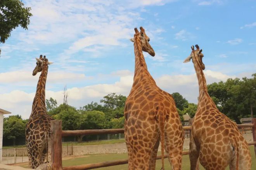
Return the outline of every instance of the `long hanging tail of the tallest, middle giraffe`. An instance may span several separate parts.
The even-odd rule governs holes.
[[[165,122],[165,116],[164,116],[164,110],[158,109],[157,110],[158,115],[158,123],[159,123],[159,131],[160,131],[160,142],[161,142],[161,155],[162,155],[162,168],[161,170],[164,170],[164,122]]]

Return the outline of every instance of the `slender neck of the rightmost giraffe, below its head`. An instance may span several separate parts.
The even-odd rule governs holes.
[[[195,68],[195,73],[197,76],[197,80],[198,80],[198,85],[199,85],[199,99],[198,102],[200,102],[205,95],[208,95],[208,88],[207,88],[207,84],[206,84],[206,80],[204,77],[204,72],[199,64],[199,61],[195,58],[195,53],[194,53],[194,57],[192,58],[193,63],[194,63],[194,68]]]

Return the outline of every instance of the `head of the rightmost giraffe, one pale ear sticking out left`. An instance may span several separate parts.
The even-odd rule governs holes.
[[[202,49],[199,48],[199,46],[196,44],[195,45],[196,50],[194,50],[194,46],[191,46],[192,52],[190,54],[190,56],[188,56],[183,63],[187,63],[191,60],[192,58],[192,62],[197,62],[199,64],[199,66],[202,68],[202,70],[205,69],[204,63],[202,62],[202,58],[204,57],[204,54],[202,53]]]

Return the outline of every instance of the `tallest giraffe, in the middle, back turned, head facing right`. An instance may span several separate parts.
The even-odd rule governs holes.
[[[173,97],[157,87],[147,70],[142,51],[155,55],[143,27],[135,28],[135,73],[125,103],[125,140],[129,170],[155,170],[161,141],[162,169],[164,150],[173,170],[181,170],[183,129]]]

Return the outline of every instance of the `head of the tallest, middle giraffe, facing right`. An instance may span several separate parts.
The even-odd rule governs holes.
[[[155,56],[155,51],[154,49],[150,46],[149,44],[149,37],[147,36],[147,34],[145,33],[145,30],[143,27],[140,27],[140,32],[138,31],[137,28],[134,29],[135,34],[134,34],[134,38],[131,38],[131,42],[134,42],[135,37],[139,37],[141,43],[142,43],[142,51],[145,51],[147,53],[149,53],[151,56]]]

